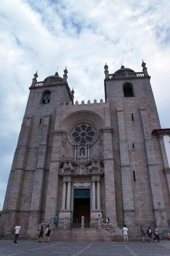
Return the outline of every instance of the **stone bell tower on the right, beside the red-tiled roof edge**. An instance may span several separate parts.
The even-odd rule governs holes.
[[[153,129],[160,128],[160,122],[146,64],[142,60],[142,72],[122,65],[110,74],[107,64],[104,68],[105,100],[110,102],[114,131],[117,204],[122,198],[122,205],[116,207],[118,221],[128,224],[131,233],[134,227],[141,225],[142,215],[150,216],[152,221],[148,224],[167,227],[161,189],[163,173],[156,151],[159,141],[152,134]]]

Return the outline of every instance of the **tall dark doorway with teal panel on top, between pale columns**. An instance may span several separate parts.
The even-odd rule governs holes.
[[[74,189],[73,218],[90,219],[90,189]]]

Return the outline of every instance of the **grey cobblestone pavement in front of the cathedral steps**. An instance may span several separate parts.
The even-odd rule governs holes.
[[[170,241],[130,242],[49,242],[0,240],[0,256],[170,256]]]

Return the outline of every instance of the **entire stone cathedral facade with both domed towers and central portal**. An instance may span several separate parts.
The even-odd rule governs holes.
[[[109,217],[126,224],[166,230],[170,224],[170,168],[145,63],[143,71],[122,66],[109,74],[105,102],[74,103],[74,90],[55,73],[37,81],[26,112],[9,175],[0,235],[16,221],[23,234],[59,218]]]

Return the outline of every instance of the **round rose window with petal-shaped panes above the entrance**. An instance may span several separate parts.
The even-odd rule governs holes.
[[[96,131],[91,125],[79,125],[74,128],[71,135],[76,143],[91,143],[96,138]]]

